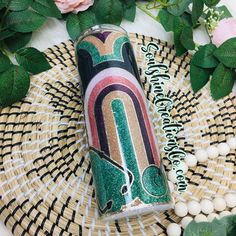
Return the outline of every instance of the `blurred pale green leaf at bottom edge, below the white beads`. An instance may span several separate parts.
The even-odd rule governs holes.
[[[201,222],[190,222],[184,231],[183,236],[226,236],[226,229],[223,224]]]

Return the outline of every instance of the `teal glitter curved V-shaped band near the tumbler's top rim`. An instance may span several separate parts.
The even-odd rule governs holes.
[[[93,66],[96,66],[99,63],[104,61],[116,60],[116,61],[124,61],[122,56],[122,47],[125,43],[129,42],[129,38],[126,36],[121,36],[116,39],[113,44],[113,53],[107,55],[100,55],[96,46],[90,42],[82,41],[77,45],[77,50],[84,49],[88,51],[93,60]]]

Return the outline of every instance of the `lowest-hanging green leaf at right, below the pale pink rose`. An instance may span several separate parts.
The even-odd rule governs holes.
[[[220,63],[213,72],[211,79],[211,95],[217,100],[228,95],[234,85],[233,71]]]

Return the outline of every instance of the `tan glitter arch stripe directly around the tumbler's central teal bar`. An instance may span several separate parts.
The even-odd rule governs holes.
[[[113,160],[122,163],[122,155],[119,150],[118,134],[116,130],[114,116],[112,114],[111,103],[114,99],[120,99],[124,102],[125,111],[127,114],[128,125],[130,128],[131,138],[136,153],[137,162],[140,171],[142,172],[149,164],[146,155],[145,146],[141,130],[139,127],[138,118],[131,98],[124,92],[114,91],[109,93],[103,100],[102,110],[106,127],[106,134],[110,150],[110,156]]]

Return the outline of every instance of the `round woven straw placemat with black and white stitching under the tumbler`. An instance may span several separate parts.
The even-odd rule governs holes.
[[[199,148],[226,141],[236,134],[236,98],[213,101],[206,86],[193,94],[189,83],[190,56],[175,57],[167,43],[131,34],[141,79],[159,140],[155,93],[144,76],[140,47],[155,41],[158,62],[169,66],[166,95],[174,102],[171,115],[183,125],[180,147]],[[53,68],[31,77],[27,97],[0,111],[0,217],[14,235],[166,235],[169,223],[181,218],[173,210],[134,219],[103,223],[98,219],[86,142],[78,73],[71,41],[46,50]],[[163,140],[164,142],[164,140]],[[162,144],[163,145],[163,144]],[[166,170],[170,162],[163,155]],[[236,191],[235,152],[198,163],[186,174],[185,193],[176,201],[200,201]]]

